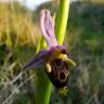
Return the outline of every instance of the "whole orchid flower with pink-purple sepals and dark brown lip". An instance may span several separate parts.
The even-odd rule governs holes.
[[[40,13],[40,28],[47,42],[47,49],[36,53],[35,57],[24,66],[24,69],[44,68],[49,79],[56,88],[66,87],[69,68],[76,66],[76,63],[68,58],[66,47],[57,44],[49,10],[42,10]]]

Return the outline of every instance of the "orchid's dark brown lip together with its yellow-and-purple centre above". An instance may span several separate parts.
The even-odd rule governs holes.
[[[67,57],[66,50],[61,46],[53,48],[51,51],[50,62],[47,64],[46,70],[52,83],[56,88],[63,88],[67,84],[69,77],[69,63],[72,62]]]

